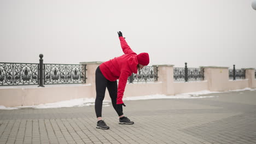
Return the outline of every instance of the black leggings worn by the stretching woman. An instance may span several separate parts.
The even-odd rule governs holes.
[[[95,73],[95,82],[96,82],[96,99],[95,99],[95,112],[97,117],[101,117],[102,112],[102,102],[105,97],[106,87],[112,101],[112,105],[115,111],[118,113],[118,116],[124,115],[123,111],[117,111],[117,81],[107,80],[101,73],[100,67],[96,69]]]

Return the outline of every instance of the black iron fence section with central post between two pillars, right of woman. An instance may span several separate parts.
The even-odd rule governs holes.
[[[202,81],[204,79],[203,68],[173,68],[174,81]]]

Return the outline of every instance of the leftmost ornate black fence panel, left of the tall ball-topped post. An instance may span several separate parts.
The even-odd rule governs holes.
[[[38,85],[36,63],[0,63],[0,86]]]

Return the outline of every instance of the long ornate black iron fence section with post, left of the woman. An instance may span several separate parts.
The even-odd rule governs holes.
[[[86,65],[0,63],[0,86],[86,83]]]

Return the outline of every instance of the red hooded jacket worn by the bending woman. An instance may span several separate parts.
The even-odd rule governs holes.
[[[127,79],[132,73],[137,74],[137,53],[133,52],[123,37],[119,37],[124,55],[115,57],[100,65],[101,73],[109,81],[118,82],[117,104],[123,104],[123,95]]]

